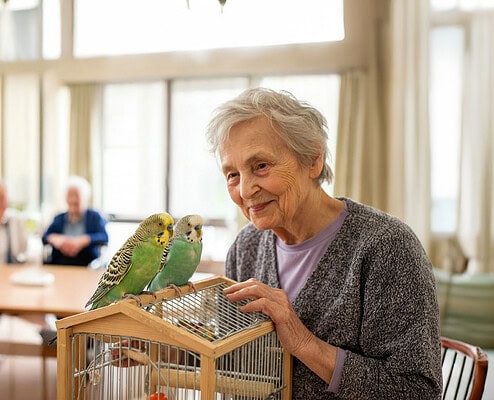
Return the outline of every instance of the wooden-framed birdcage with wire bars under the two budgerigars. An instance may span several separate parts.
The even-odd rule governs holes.
[[[291,398],[291,356],[214,277],[57,321],[58,399]]]

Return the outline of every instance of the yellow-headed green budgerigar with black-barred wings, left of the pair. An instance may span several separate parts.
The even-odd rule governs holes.
[[[86,307],[94,310],[126,295],[142,293],[162,267],[164,249],[173,237],[173,223],[168,213],[143,220],[108,263]]]

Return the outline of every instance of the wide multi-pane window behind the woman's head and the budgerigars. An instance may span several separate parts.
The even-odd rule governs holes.
[[[213,109],[249,86],[283,88],[325,114],[334,147],[339,77],[236,77],[176,80],[169,85],[168,123],[164,122],[165,83],[105,87],[100,189],[103,209],[116,214],[117,219],[135,221],[160,210],[175,218],[200,214],[205,219],[207,238],[203,259],[224,260],[240,226],[217,160],[207,148],[205,131]],[[131,226],[119,225],[119,229],[110,227],[112,237],[125,238]],[[121,243],[113,245],[116,250]]]

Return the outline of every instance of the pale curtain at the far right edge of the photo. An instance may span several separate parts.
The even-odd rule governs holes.
[[[494,272],[494,13],[472,15],[461,144],[458,236],[469,272]]]

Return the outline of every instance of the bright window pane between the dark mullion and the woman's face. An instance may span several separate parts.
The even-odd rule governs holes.
[[[235,209],[215,157],[206,144],[206,125],[220,103],[247,88],[246,78],[175,81],[171,85],[170,210],[231,220]]]

